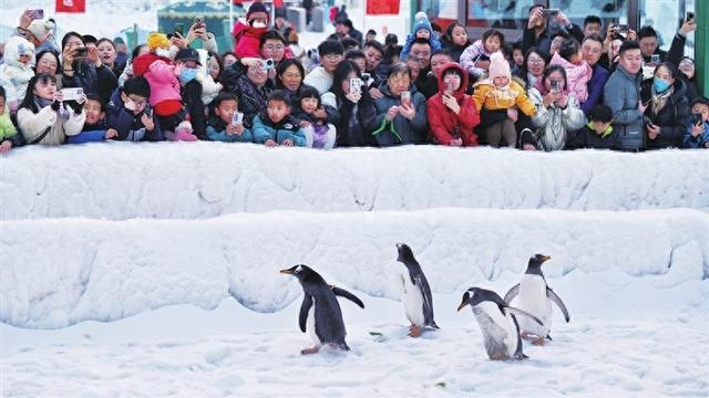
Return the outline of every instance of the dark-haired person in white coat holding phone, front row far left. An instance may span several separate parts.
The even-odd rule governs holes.
[[[39,73],[30,78],[27,94],[18,108],[18,127],[28,144],[62,145],[66,136],[81,132],[86,121],[84,96],[62,101],[56,77]]]

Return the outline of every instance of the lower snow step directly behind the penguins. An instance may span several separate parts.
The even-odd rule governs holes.
[[[446,208],[4,221],[0,322],[60,328],[172,304],[212,310],[232,296],[250,310],[276,312],[301,295],[278,270],[299,263],[352,291],[395,300],[397,242],[414,250],[434,294],[520,275],[534,253],[552,256],[545,269],[551,279],[582,273],[618,289],[636,281],[658,290],[697,289],[697,283],[707,286],[709,275],[707,237],[709,213],[693,209]],[[604,273],[612,276],[598,276]],[[585,283],[574,289],[584,292]]]

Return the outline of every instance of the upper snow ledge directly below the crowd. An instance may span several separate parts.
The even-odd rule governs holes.
[[[705,171],[709,156],[700,150],[318,151],[223,143],[31,147],[0,157],[0,214],[125,220],[436,207],[707,211]]]

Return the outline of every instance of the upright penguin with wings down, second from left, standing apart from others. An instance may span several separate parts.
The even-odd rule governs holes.
[[[411,322],[409,336],[419,337],[424,327],[439,328],[433,321],[433,296],[429,281],[425,279],[421,265],[413,258],[413,252],[405,243],[397,243],[399,256],[397,261],[403,266],[399,268],[399,285],[401,287],[401,301]]]

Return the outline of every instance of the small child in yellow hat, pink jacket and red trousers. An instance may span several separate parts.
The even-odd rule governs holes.
[[[196,70],[175,64],[169,57],[169,44],[166,35],[151,33],[147,38],[150,53],[135,59],[133,72],[150,83],[150,103],[165,137],[169,140],[196,142],[192,125],[185,121],[179,84],[179,78],[196,74]]]

